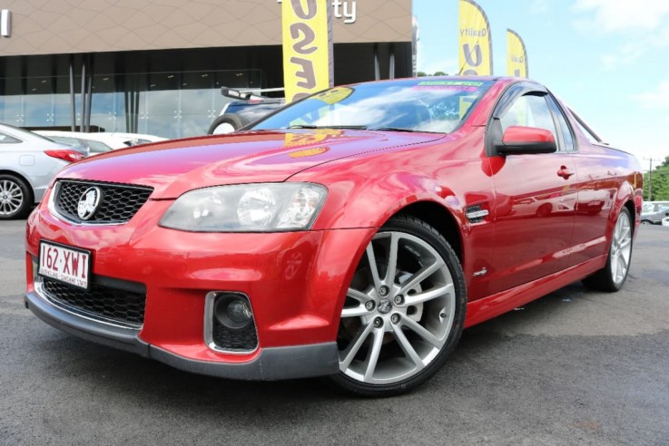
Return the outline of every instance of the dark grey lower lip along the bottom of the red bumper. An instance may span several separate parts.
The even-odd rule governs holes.
[[[139,330],[107,325],[73,315],[44,300],[35,292],[25,296],[25,304],[45,323],[65,333],[141,354],[186,372],[258,381],[307,378],[339,372],[335,342],[263,348],[258,356],[246,363],[195,361],[143,342],[139,337]]]

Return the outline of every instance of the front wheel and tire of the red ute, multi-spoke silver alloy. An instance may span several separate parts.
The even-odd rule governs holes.
[[[330,383],[361,396],[408,392],[446,363],[466,311],[465,277],[446,239],[418,218],[391,218],[349,286]]]

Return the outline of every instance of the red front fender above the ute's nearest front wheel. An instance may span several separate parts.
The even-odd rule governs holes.
[[[481,128],[477,133],[482,131]],[[452,230],[451,221],[445,221],[445,218],[452,218],[461,245],[460,260],[469,297],[477,299],[486,295],[489,280],[487,276],[475,276],[474,273],[492,270],[489,262],[495,246],[492,223],[495,193],[487,157],[481,152],[481,158],[448,160],[444,153],[448,156],[452,145],[455,150],[463,150],[463,147],[472,147],[473,143],[462,138],[411,149],[410,157],[406,150],[399,150],[383,156],[377,154],[369,162],[366,158],[338,160],[318,169],[304,170],[291,180],[323,182],[329,186],[328,199],[313,230],[375,229],[362,246],[348,247],[351,255],[356,253],[351,259],[352,267],[358,264],[376,230],[405,209],[418,211],[414,215],[442,232]],[[383,169],[387,163],[406,167],[389,173]],[[467,208],[474,206],[487,210],[490,217],[470,222],[466,216]],[[444,218],[439,216],[440,211]],[[448,232],[444,236],[448,239]]]

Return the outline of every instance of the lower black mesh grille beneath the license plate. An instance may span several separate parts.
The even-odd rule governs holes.
[[[90,290],[65,285],[42,277],[44,291],[56,304],[74,309],[104,322],[141,327],[144,323],[146,293],[94,284]]]

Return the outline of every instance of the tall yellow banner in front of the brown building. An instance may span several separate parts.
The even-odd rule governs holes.
[[[332,13],[328,0],[283,0],[286,102],[332,86]]]

